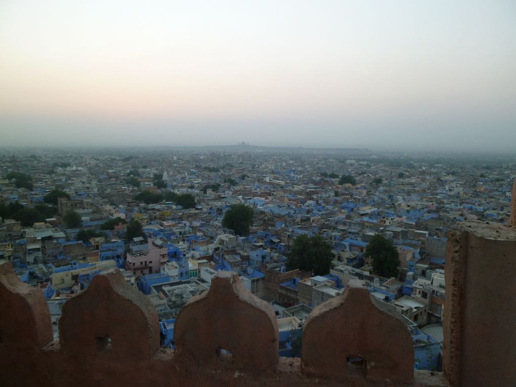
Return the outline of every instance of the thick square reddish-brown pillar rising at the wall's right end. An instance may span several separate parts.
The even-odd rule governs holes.
[[[516,385],[516,231],[465,222],[446,245],[443,368],[454,386]]]

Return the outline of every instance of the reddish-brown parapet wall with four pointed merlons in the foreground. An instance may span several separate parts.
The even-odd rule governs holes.
[[[60,343],[52,340],[41,292],[6,263],[0,265],[0,381],[6,387],[448,385],[440,373],[413,373],[407,327],[379,309],[362,282],[352,281],[332,301],[309,317],[303,358],[279,358],[270,305],[249,293],[236,273],[219,272],[211,289],[181,310],[174,353],[158,348],[150,301],[115,270],[67,301]],[[367,360],[361,373],[350,372],[350,355]]]

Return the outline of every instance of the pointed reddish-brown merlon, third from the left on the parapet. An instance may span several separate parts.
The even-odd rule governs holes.
[[[191,298],[181,309],[174,342],[178,360],[190,364],[269,372],[278,365],[276,316],[235,272],[219,271],[209,291]],[[231,355],[224,356],[221,349]]]

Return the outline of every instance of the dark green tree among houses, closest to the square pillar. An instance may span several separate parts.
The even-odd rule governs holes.
[[[373,273],[376,275],[386,278],[398,277],[399,254],[391,239],[376,234],[367,244],[364,255],[372,258]]]

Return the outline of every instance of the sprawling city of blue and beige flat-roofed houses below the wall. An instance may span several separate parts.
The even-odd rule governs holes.
[[[4,150],[0,168],[0,259],[43,295],[54,340],[68,300],[118,270],[173,349],[182,308],[222,271],[298,358],[310,313],[361,280],[410,331],[414,369],[441,372],[448,231],[509,224],[516,159],[241,142]]]

